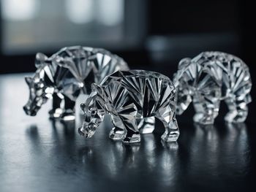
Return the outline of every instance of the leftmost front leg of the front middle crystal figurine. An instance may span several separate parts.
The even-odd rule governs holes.
[[[124,139],[125,128],[122,120],[116,115],[111,115],[111,120],[114,127],[110,131],[110,139],[113,139],[115,141]]]

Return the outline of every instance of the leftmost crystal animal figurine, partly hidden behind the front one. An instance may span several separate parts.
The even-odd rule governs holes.
[[[91,93],[91,83],[101,82],[108,74],[128,69],[122,58],[107,50],[91,47],[64,47],[48,58],[37,53],[37,71],[25,77],[29,101],[23,107],[27,115],[37,115],[49,98],[53,98],[50,118],[75,119],[75,100],[80,93]]]

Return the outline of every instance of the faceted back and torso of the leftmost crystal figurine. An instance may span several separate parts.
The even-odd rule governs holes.
[[[75,100],[78,92],[89,94],[91,83],[100,83],[108,74],[129,69],[123,59],[107,50],[91,47],[64,47],[52,55],[48,61],[52,65],[56,87]],[[72,90],[70,90],[72,89]]]

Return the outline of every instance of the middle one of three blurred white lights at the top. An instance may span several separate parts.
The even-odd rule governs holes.
[[[93,0],[66,0],[67,17],[72,23],[89,23],[93,20]]]

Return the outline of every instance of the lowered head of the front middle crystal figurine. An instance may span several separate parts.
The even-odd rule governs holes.
[[[105,116],[105,107],[103,106],[104,91],[100,85],[91,84],[91,94],[86,100],[86,103],[80,105],[84,112],[85,120],[83,126],[78,128],[78,133],[86,138],[94,135],[99,123],[102,122]]]

